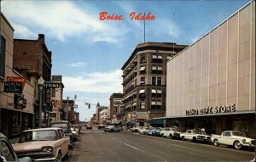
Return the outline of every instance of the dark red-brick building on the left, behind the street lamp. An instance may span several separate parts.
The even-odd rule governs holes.
[[[51,80],[51,52],[48,50],[44,35],[38,34],[37,40],[15,39],[14,40],[14,69],[19,71],[35,87],[33,106],[35,113],[35,125],[38,127],[39,91],[38,78],[42,76],[44,81]],[[44,88],[44,108],[50,106],[50,89]],[[44,109],[43,108],[43,109]],[[46,114],[44,112],[44,122]]]

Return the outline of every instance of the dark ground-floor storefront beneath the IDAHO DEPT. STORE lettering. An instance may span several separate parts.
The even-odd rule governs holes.
[[[247,137],[254,137],[254,111],[242,111],[218,115],[190,115],[173,118],[161,118],[154,120],[166,120],[166,127],[177,126],[180,131],[187,129],[205,128],[207,134],[221,134],[222,131],[243,131]],[[151,121],[150,121],[151,124]]]

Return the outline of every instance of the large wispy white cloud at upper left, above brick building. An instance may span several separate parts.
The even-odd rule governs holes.
[[[67,36],[78,36],[115,43],[125,32],[118,25],[98,20],[98,13],[92,8],[82,10],[71,1],[4,1],[1,5],[16,33],[25,33],[24,36],[44,33],[61,42]],[[30,35],[26,34],[28,31]]]

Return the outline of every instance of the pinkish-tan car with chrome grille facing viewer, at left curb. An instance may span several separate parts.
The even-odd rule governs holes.
[[[70,138],[61,128],[40,128],[22,131],[18,143],[13,144],[19,158],[33,161],[61,161],[69,156]]]

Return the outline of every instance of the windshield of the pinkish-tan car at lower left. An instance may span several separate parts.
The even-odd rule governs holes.
[[[55,130],[26,131],[21,134],[20,142],[52,141],[56,139]]]

